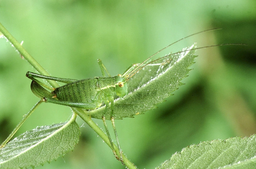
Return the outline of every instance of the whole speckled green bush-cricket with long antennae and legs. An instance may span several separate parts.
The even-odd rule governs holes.
[[[218,28],[219,29],[219,28]],[[211,30],[217,30],[217,29],[210,29],[210,30],[204,30],[198,33],[191,34],[185,38],[191,37],[195,34],[199,34],[206,31]],[[111,149],[115,155],[115,158],[124,165],[123,158],[122,158],[122,150],[120,148],[120,144],[118,141],[117,131],[115,127],[115,112],[114,112],[114,97],[118,96],[120,98],[124,97],[127,94],[127,89],[129,85],[127,83],[129,82],[129,79],[133,77],[137,72],[141,71],[146,66],[155,66],[155,65],[161,65],[165,63],[157,63],[154,64],[155,61],[158,61],[159,59],[162,59],[164,57],[168,57],[173,54],[181,53],[176,52],[173,54],[166,55],[164,57],[155,59],[154,61],[150,62],[149,59],[155,56],[160,51],[168,48],[169,46],[185,39],[182,38],[165,48],[159,50],[149,58],[147,58],[145,61],[143,61],[140,64],[133,64],[131,65],[126,71],[124,71],[123,74],[118,74],[116,76],[111,76],[105,66],[103,65],[102,61],[98,59],[98,64],[102,73],[102,77],[94,77],[94,78],[88,78],[88,79],[67,79],[67,78],[58,78],[58,77],[51,77],[51,76],[44,76],[32,72],[27,72],[26,77],[32,80],[31,82],[31,90],[32,92],[39,97],[41,100],[32,108],[31,111],[29,111],[24,118],[21,120],[21,122],[17,125],[17,127],[13,130],[13,132],[9,135],[9,137],[0,145],[0,148],[4,147],[5,144],[13,137],[15,132],[19,129],[19,127],[24,123],[24,121],[31,115],[34,110],[39,106],[42,102],[49,102],[49,103],[55,103],[55,104],[61,104],[65,106],[70,107],[77,107],[82,108],[85,110],[95,110],[101,106],[105,105],[105,111],[102,114],[102,121],[105,127],[106,134],[109,138]],[[213,47],[213,46],[222,46],[222,45],[238,45],[238,44],[221,44],[221,45],[212,45],[212,46],[206,46],[206,47]],[[241,44],[240,44],[241,45]],[[200,48],[206,48],[206,47],[200,47]],[[195,49],[200,49],[195,48]],[[189,49],[189,50],[195,50],[195,49]],[[186,50],[186,51],[189,51]],[[184,52],[184,51],[182,51]],[[149,61],[148,63],[146,63]],[[105,75],[105,72],[108,76]],[[58,87],[58,88],[52,88],[44,84],[43,82],[37,80],[36,78],[41,79],[47,79],[47,80],[54,80],[66,83],[64,86]],[[110,119],[112,122],[112,126],[114,129],[114,134],[117,142],[117,147],[120,156],[117,155],[114,146],[113,141],[111,139],[109,129],[106,125],[106,118],[105,115],[107,113],[107,110],[111,110]]]

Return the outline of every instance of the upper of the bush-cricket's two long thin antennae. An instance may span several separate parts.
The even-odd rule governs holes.
[[[149,58],[147,58],[145,61],[143,61],[141,64],[139,64],[133,71],[131,71],[131,72],[127,75],[128,78],[126,79],[126,81],[128,81],[128,80],[129,80],[136,72],[138,72],[140,69],[142,69],[143,67],[146,66],[146,65],[145,65],[145,66],[139,68],[142,64],[144,64],[144,63],[145,63],[146,61],[148,61],[151,57],[155,56],[157,53],[163,51],[164,49],[168,48],[169,46],[171,46],[171,45],[173,45],[173,44],[175,44],[175,43],[177,43],[177,42],[179,42],[179,41],[181,41],[181,40],[183,40],[183,39],[192,37],[193,35],[196,35],[196,34],[199,34],[199,33],[203,33],[203,32],[213,31],[213,30],[219,30],[219,29],[222,29],[222,28],[208,29],[208,30],[203,30],[203,31],[197,32],[197,33],[193,33],[193,34],[191,34],[191,35],[189,35],[189,36],[187,36],[187,37],[181,38],[180,40],[178,40],[178,41],[176,41],[176,42],[174,42],[174,43],[172,43],[172,44],[170,44],[170,45],[164,47],[163,49],[159,50],[159,51],[156,52],[155,54],[151,55]],[[166,57],[166,56],[165,56],[165,57]],[[159,58],[159,59],[160,59],[160,58]],[[158,59],[157,59],[157,60],[158,60]],[[156,60],[155,60],[155,61],[156,61]],[[139,68],[139,69],[138,69],[138,68]],[[137,70],[137,69],[138,69],[138,70]]]

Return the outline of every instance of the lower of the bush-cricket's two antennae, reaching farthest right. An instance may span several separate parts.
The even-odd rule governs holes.
[[[183,38],[184,39],[184,38]],[[178,41],[176,41],[176,42],[178,42]],[[175,43],[176,43],[175,42]],[[135,75],[139,70],[141,70],[142,68],[144,68],[145,66],[147,66],[147,65],[149,65],[149,64],[152,64],[153,62],[155,62],[155,61],[158,61],[159,59],[162,59],[162,58],[165,58],[165,57],[168,57],[168,56],[171,56],[171,55],[174,55],[174,54],[178,54],[178,53],[182,53],[182,52],[187,52],[187,51],[191,51],[191,50],[196,50],[196,49],[202,49],[202,48],[210,48],[210,47],[215,47],[215,46],[227,46],[227,45],[248,45],[248,44],[220,44],[220,45],[211,45],[211,46],[204,46],[204,47],[199,47],[199,48],[195,48],[195,49],[188,49],[188,50],[184,50],[184,51],[180,51],[180,52],[176,52],[176,53],[172,53],[172,54],[169,54],[169,55],[166,55],[166,56],[163,56],[163,57],[160,57],[160,58],[158,58],[158,59],[156,59],[156,60],[154,60],[154,61],[152,61],[152,62],[150,62],[150,63],[147,63],[146,65],[144,65],[144,66],[142,66],[142,67],[140,67],[138,70],[136,70],[134,73],[132,73],[132,75],[130,75],[129,77],[127,77],[127,80],[126,81],[128,81],[133,75]],[[169,45],[170,46],[170,45]],[[166,47],[165,47],[166,48]],[[164,48],[164,49],[165,49]],[[157,52],[158,53],[158,52]],[[151,56],[150,56],[151,57]],[[146,60],[148,60],[148,59],[146,59]],[[145,61],[144,61],[145,62]],[[142,63],[144,63],[144,62],[142,62]],[[141,65],[141,64],[140,64]],[[140,66],[139,65],[139,66]],[[138,67],[139,67],[138,66]],[[137,68],[138,68],[137,67]],[[136,69],[137,69],[136,68]]]

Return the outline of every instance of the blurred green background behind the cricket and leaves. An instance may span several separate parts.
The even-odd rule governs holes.
[[[170,43],[210,28],[223,29],[185,39],[156,58],[194,42],[248,44],[198,50],[194,70],[174,96],[144,115],[116,120],[124,154],[138,168],[154,168],[188,145],[256,133],[255,9],[255,0],[1,0],[0,22],[52,76],[74,79],[101,76],[98,58],[112,75],[121,74]],[[1,142],[39,100],[27,71],[35,69],[0,39]],[[69,107],[42,104],[16,136],[70,115]],[[77,122],[82,135],[74,151],[37,168],[125,168],[80,117]]]

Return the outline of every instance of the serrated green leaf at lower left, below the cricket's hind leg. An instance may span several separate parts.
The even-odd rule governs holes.
[[[56,160],[73,150],[81,135],[73,116],[65,123],[26,131],[0,149],[0,168],[28,168]]]

